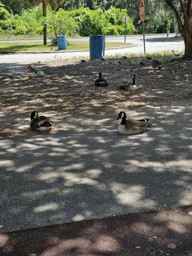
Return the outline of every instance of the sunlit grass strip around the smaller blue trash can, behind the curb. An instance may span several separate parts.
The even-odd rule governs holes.
[[[122,46],[131,46],[133,44],[124,44],[121,42],[106,42],[106,48],[111,47],[122,47]],[[74,50],[88,50],[89,42],[68,42],[67,51]],[[0,51],[13,51],[13,52],[22,52],[22,51],[51,51],[51,44],[42,45],[42,43],[6,43],[0,44]],[[53,51],[58,51],[58,47],[54,46]]]

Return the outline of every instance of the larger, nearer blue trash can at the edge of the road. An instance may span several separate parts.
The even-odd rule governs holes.
[[[90,36],[90,59],[104,58],[106,36]]]

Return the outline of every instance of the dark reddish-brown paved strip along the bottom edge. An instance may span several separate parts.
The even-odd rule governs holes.
[[[192,207],[0,234],[1,256],[189,256]]]

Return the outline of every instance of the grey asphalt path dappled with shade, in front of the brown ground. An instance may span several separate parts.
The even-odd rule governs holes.
[[[129,112],[154,124],[136,136],[117,134],[104,111],[2,137],[0,232],[191,204],[190,115],[188,101],[151,102]]]

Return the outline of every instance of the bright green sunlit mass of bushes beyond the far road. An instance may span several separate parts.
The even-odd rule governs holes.
[[[106,12],[102,10],[90,10],[79,8],[78,10],[65,11],[60,8],[54,12],[50,5],[47,6],[47,19],[42,17],[42,4],[29,10],[24,10],[20,15],[11,15],[0,6],[0,28],[10,31],[13,35],[41,35],[44,22],[47,22],[48,33],[54,36],[63,34],[67,36],[90,35],[124,35],[124,22],[122,17],[127,15],[127,10],[110,8]],[[127,33],[134,33],[132,20],[127,22]]]

